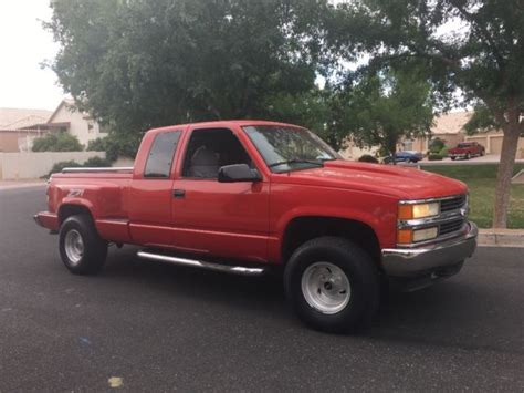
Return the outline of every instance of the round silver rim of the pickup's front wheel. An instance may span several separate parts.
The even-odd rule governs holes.
[[[334,314],[349,303],[352,286],[344,270],[336,265],[315,262],[302,275],[302,293],[315,310]]]

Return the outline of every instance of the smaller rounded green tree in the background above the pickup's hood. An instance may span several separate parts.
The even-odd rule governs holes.
[[[417,71],[366,72],[334,101],[335,126],[357,145],[379,145],[395,156],[402,137],[429,132],[433,120],[430,93],[430,84]]]

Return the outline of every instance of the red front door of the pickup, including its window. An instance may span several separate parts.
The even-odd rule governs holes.
[[[266,261],[269,182],[219,183],[221,166],[248,164],[248,151],[229,128],[189,130],[172,190],[172,242],[178,249]]]

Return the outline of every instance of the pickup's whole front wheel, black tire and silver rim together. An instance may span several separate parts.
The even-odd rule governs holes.
[[[298,247],[284,271],[287,300],[307,325],[355,331],[378,309],[380,280],[374,260],[349,240],[321,237]]]

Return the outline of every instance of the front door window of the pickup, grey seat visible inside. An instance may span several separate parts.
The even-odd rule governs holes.
[[[182,176],[213,179],[218,178],[220,167],[233,164],[253,167],[250,156],[230,130],[195,130],[186,151]]]

